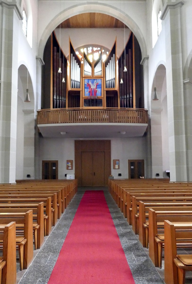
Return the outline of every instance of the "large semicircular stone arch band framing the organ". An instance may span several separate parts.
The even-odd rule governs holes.
[[[42,32],[42,35],[39,40],[39,46],[38,46],[38,57],[43,58],[43,52],[44,47],[47,42],[48,37],[52,33],[52,31],[60,24],[61,19],[62,21],[75,16],[77,14],[82,14],[86,12],[99,12],[103,14],[107,14],[110,16],[113,16],[114,18],[117,18],[121,22],[123,22],[126,26],[128,26],[131,31],[135,34],[138,43],[141,48],[142,58],[147,56],[147,47],[146,42],[144,39],[144,36],[136,24],[136,22],[131,18],[129,15],[123,14],[120,9],[115,9],[111,5],[106,4],[82,4],[82,5],[76,5],[69,9],[65,9],[58,13],[46,26],[45,30]]]

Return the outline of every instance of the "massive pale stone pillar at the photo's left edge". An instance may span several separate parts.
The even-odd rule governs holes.
[[[16,176],[18,29],[22,13],[16,2],[0,1],[2,53],[0,85],[0,183]]]

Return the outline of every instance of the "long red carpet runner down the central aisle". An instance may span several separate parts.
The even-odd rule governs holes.
[[[135,284],[103,191],[86,191],[48,284]]]

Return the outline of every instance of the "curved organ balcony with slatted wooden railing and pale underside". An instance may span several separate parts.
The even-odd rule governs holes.
[[[142,137],[148,125],[144,109],[39,110],[37,123],[43,137]]]

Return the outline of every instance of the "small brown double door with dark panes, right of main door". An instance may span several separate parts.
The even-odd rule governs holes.
[[[128,160],[128,176],[130,179],[144,176],[144,160]]]

